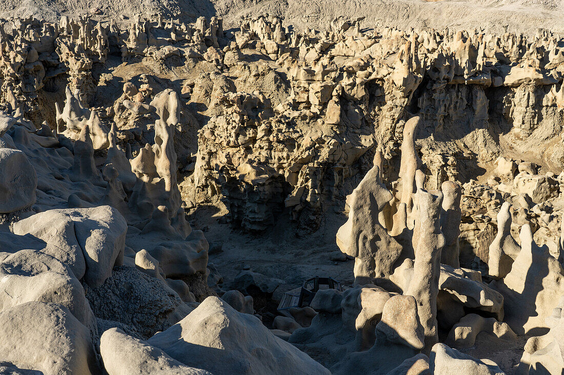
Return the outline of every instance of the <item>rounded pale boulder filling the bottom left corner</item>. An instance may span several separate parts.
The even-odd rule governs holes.
[[[67,308],[28,302],[0,311],[0,358],[55,374],[99,374],[90,331]]]

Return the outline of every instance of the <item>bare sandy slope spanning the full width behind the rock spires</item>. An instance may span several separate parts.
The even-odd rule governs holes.
[[[0,16],[34,15],[56,20],[61,15],[90,15],[121,20],[139,13],[160,13],[185,21],[222,16],[226,28],[241,16],[271,14],[297,29],[329,29],[336,17],[364,18],[362,26],[400,28],[483,28],[486,32],[523,32],[539,28],[564,33],[564,4],[557,0],[0,0]],[[126,19],[127,21],[127,19]]]

